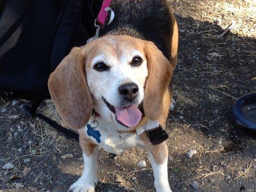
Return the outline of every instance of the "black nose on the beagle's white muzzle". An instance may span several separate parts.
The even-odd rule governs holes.
[[[136,98],[139,87],[137,84],[123,84],[118,88],[120,95],[127,101],[132,101]]]

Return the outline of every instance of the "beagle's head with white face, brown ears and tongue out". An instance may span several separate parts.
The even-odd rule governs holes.
[[[104,36],[73,48],[49,77],[50,95],[62,120],[80,129],[92,109],[126,127],[158,119],[174,66],[149,41]]]

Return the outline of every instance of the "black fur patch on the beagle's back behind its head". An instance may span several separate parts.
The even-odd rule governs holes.
[[[128,35],[152,41],[171,59],[172,20],[166,0],[112,0],[115,18],[105,25],[101,36]]]

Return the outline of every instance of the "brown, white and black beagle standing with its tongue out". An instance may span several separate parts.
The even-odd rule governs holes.
[[[112,0],[100,38],[73,48],[49,77],[61,119],[79,132],[84,172],[69,191],[94,192],[98,149],[148,152],[157,192],[171,192],[166,143],[149,132],[165,123],[177,64],[178,27],[166,0]]]

